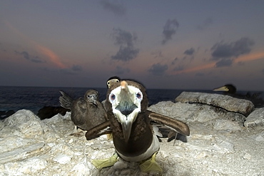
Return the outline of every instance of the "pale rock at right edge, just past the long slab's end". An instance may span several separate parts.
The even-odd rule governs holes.
[[[244,123],[246,128],[264,125],[264,108],[258,108],[250,113]]]

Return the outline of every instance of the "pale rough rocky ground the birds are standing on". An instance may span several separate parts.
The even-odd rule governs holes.
[[[187,143],[162,139],[156,160],[163,175],[264,175],[263,123],[245,128],[245,116],[210,105],[160,102],[149,109],[191,130]],[[40,120],[19,110],[0,120],[0,175],[157,175],[121,159],[98,171],[91,160],[113,155],[113,142],[106,135],[87,141],[82,131],[72,135],[73,128],[70,113]]]

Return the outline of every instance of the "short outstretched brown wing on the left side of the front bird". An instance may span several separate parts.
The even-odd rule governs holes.
[[[101,135],[112,133],[112,129],[110,128],[110,125],[111,125],[110,121],[107,120],[106,122],[91,128],[86,132],[85,135],[86,139],[91,140],[93,138],[98,138]]]

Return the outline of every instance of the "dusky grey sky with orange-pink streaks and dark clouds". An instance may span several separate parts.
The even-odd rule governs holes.
[[[0,86],[264,91],[264,1],[0,1]]]

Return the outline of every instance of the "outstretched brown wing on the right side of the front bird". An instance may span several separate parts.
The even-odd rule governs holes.
[[[168,128],[171,128],[182,135],[190,135],[190,129],[186,123],[169,118],[165,115],[153,113],[151,110],[147,110],[146,113],[148,113],[148,118],[153,120],[155,123],[166,125]]]

